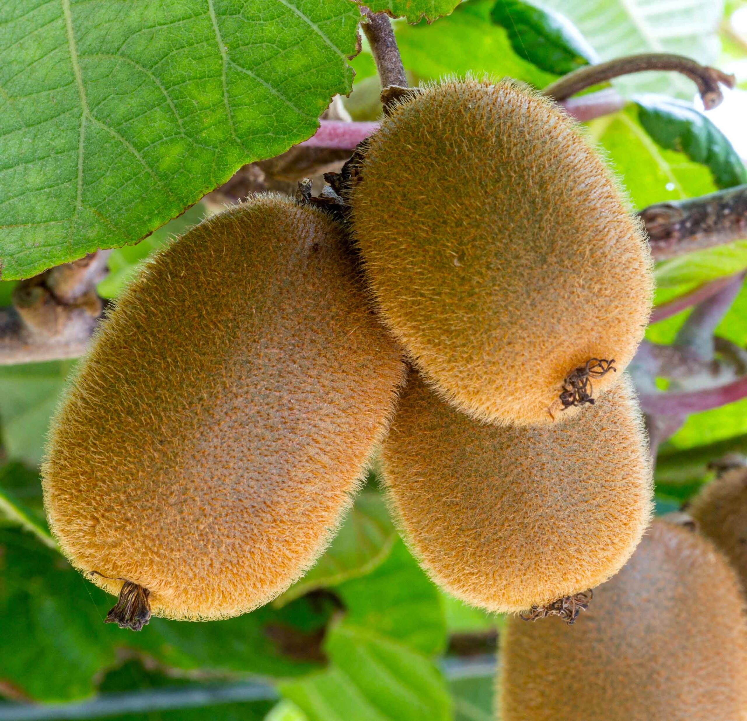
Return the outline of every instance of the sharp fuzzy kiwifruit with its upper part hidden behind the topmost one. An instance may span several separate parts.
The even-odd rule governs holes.
[[[489,611],[564,611],[622,567],[651,514],[627,378],[567,422],[527,428],[474,422],[413,375],[382,459],[415,555],[436,583]]]

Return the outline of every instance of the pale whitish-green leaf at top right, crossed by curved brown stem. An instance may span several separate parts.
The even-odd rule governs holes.
[[[542,0],[576,25],[602,60],[639,52],[674,52],[701,63],[719,53],[716,31],[723,0]],[[665,93],[684,99],[695,85],[675,73],[645,72],[615,81],[625,93]]]

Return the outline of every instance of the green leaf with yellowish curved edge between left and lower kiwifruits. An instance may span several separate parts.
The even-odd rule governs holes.
[[[360,493],[329,549],[276,605],[285,605],[311,590],[371,573],[385,561],[396,540],[397,531],[391,525],[380,494]]]

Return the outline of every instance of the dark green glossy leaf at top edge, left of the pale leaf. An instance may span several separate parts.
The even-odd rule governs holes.
[[[524,60],[555,75],[598,63],[596,51],[564,15],[529,0],[497,0],[493,22],[506,28],[511,47]]]

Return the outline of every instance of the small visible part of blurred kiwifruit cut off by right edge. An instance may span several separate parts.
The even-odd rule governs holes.
[[[731,561],[747,590],[747,468],[730,469],[710,481],[686,513]]]

